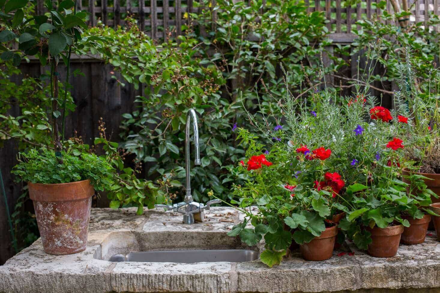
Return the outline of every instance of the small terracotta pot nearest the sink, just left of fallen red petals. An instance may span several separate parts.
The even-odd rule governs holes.
[[[321,236],[311,242],[300,245],[304,260],[328,260],[333,254],[334,242],[337,235],[337,225],[326,228]]]

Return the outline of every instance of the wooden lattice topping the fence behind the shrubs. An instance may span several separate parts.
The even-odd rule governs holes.
[[[151,38],[167,39],[182,33],[181,26],[187,23],[188,12],[197,13],[202,9],[213,9],[215,0],[208,1],[210,8],[194,7],[193,0],[79,0],[77,9],[90,13],[88,18],[90,26],[95,26],[98,20],[106,26],[123,26],[125,17],[132,15],[139,21],[139,27]],[[352,29],[356,27],[356,21],[359,19],[371,19],[374,15],[383,14],[384,10],[388,13],[394,12],[389,0],[386,1],[384,10],[378,6],[380,0],[352,2],[355,3],[343,6],[341,0],[304,0],[308,12],[325,11],[327,28],[333,33],[332,39],[335,42],[352,41]],[[37,12],[44,11],[43,3],[44,0],[37,0]],[[263,6],[268,5],[266,0],[262,3]],[[439,0],[408,0],[408,7],[411,7],[411,22],[425,22],[426,25],[429,13],[438,15]],[[215,20],[215,11],[212,16]]]

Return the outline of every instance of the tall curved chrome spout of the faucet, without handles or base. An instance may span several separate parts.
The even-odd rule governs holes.
[[[197,115],[194,109],[188,110],[187,113],[187,123],[185,127],[185,173],[186,173],[186,194],[183,201],[186,203],[190,203],[193,201],[191,195],[191,175],[190,175],[190,130],[191,130],[191,120],[193,124],[194,131],[194,154],[195,154],[195,165],[200,165],[200,150],[198,144],[198,126],[197,126]]]

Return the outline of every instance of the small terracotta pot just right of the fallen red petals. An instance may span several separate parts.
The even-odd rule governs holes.
[[[386,228],[374,226],[367,228],[371,232],[371,242],[368,245],[368,254],[375,257],[395,256],[399,249],[400,236],[403,233],[403,225],[396,225]]]

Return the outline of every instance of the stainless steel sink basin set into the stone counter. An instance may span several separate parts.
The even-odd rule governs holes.
[[[142,261],[151,263],[201,263],[227,261],[239,263],[258,259],[250,249],[162,250],[115,254],[109,261]]]

